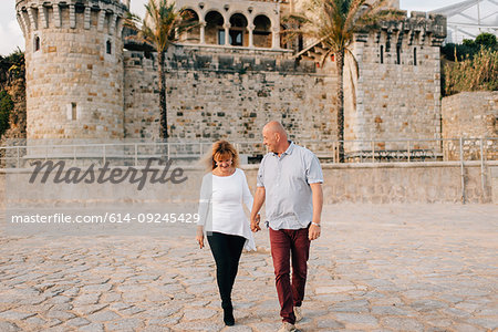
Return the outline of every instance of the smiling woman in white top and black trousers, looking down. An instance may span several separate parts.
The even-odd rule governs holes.
[[[252,208],[252,195],[246,175],[238,168],[239,156],[227,141],[212,145],[210,172],[203,178],[197,241],[204,247],[204,231],[216,261],[224,322],[234,325],[231,289],[237,276],[242,248],[256,250],[255,239],[242,203]]]

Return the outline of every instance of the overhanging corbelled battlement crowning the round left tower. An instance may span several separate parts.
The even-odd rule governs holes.
[[[121,37],[127,6],[117,0],[18,0],[15,11],[24,38],[34,31],[56,28]]]

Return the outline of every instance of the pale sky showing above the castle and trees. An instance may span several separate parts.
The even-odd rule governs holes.
[[[144,3],[147,0],[131,0],[132,12],[144,14]],[[400,0],[404,10],[430,11],[463,0]],[[8,55],[17,48],[24,50],[24,38],[15,19],[15,0],[0,0],[0,55]]]

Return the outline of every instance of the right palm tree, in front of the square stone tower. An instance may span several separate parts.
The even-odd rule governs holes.
[[[302,27],[290,31],[295,35],[304,34],[317,40],[325,52],[322,64],[332,53],[338,68],[338,141],[339,162],[344,162],[344,56],[354,55],[350,49],[354,33],[362,28],[374,25],[380,19],[396,17],[393,11],[381,11],[385,0],[366,4],[366,0],[311,0],[305,13],[289,15],[289,21]]]

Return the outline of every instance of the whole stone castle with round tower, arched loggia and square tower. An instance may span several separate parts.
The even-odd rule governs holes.
[[[320,44],[282,39],[282,18],[301,3],[177,1],[199,25],[167,53],[170,141],[256,141],[267,121],[279,120],[295,139],[333,148],[334,59],[321,68]],[[157,62],[124,39],[128,6],[17,0],[27,43],[28,138],[158,138]],[[415,13],[355,37],[359,72],[350,59],[344,76],[346,139],[400,148],[390,141],[440,138],[445,35],[444,17]]]

